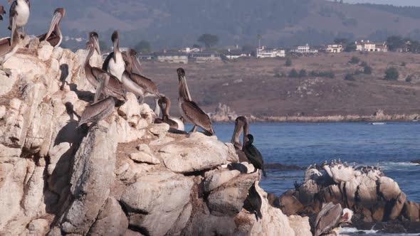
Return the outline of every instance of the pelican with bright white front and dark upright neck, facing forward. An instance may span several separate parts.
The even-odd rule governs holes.
[[[114,52],[110,53],[103,63],[102,69],[115,75],[118,80],[122,80],[122,73],[125,71],[125,63],[122,58],[122,53],[120,52],[120,47],[118,43],[118,32],[114,31],[112,33],[112,44],[114,46]]]

